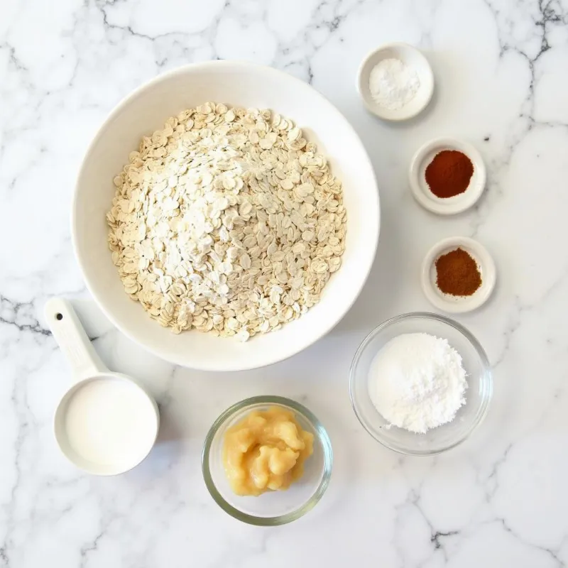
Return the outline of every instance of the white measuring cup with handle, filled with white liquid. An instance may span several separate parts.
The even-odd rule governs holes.
[[[116,475],[132,469],[158,436],[155,400],[138,381],[104,366],[69,302],[49,300],[45,317],[72,368],[73,384],[55,411],[55,439],[61,451],[89,474]]]

